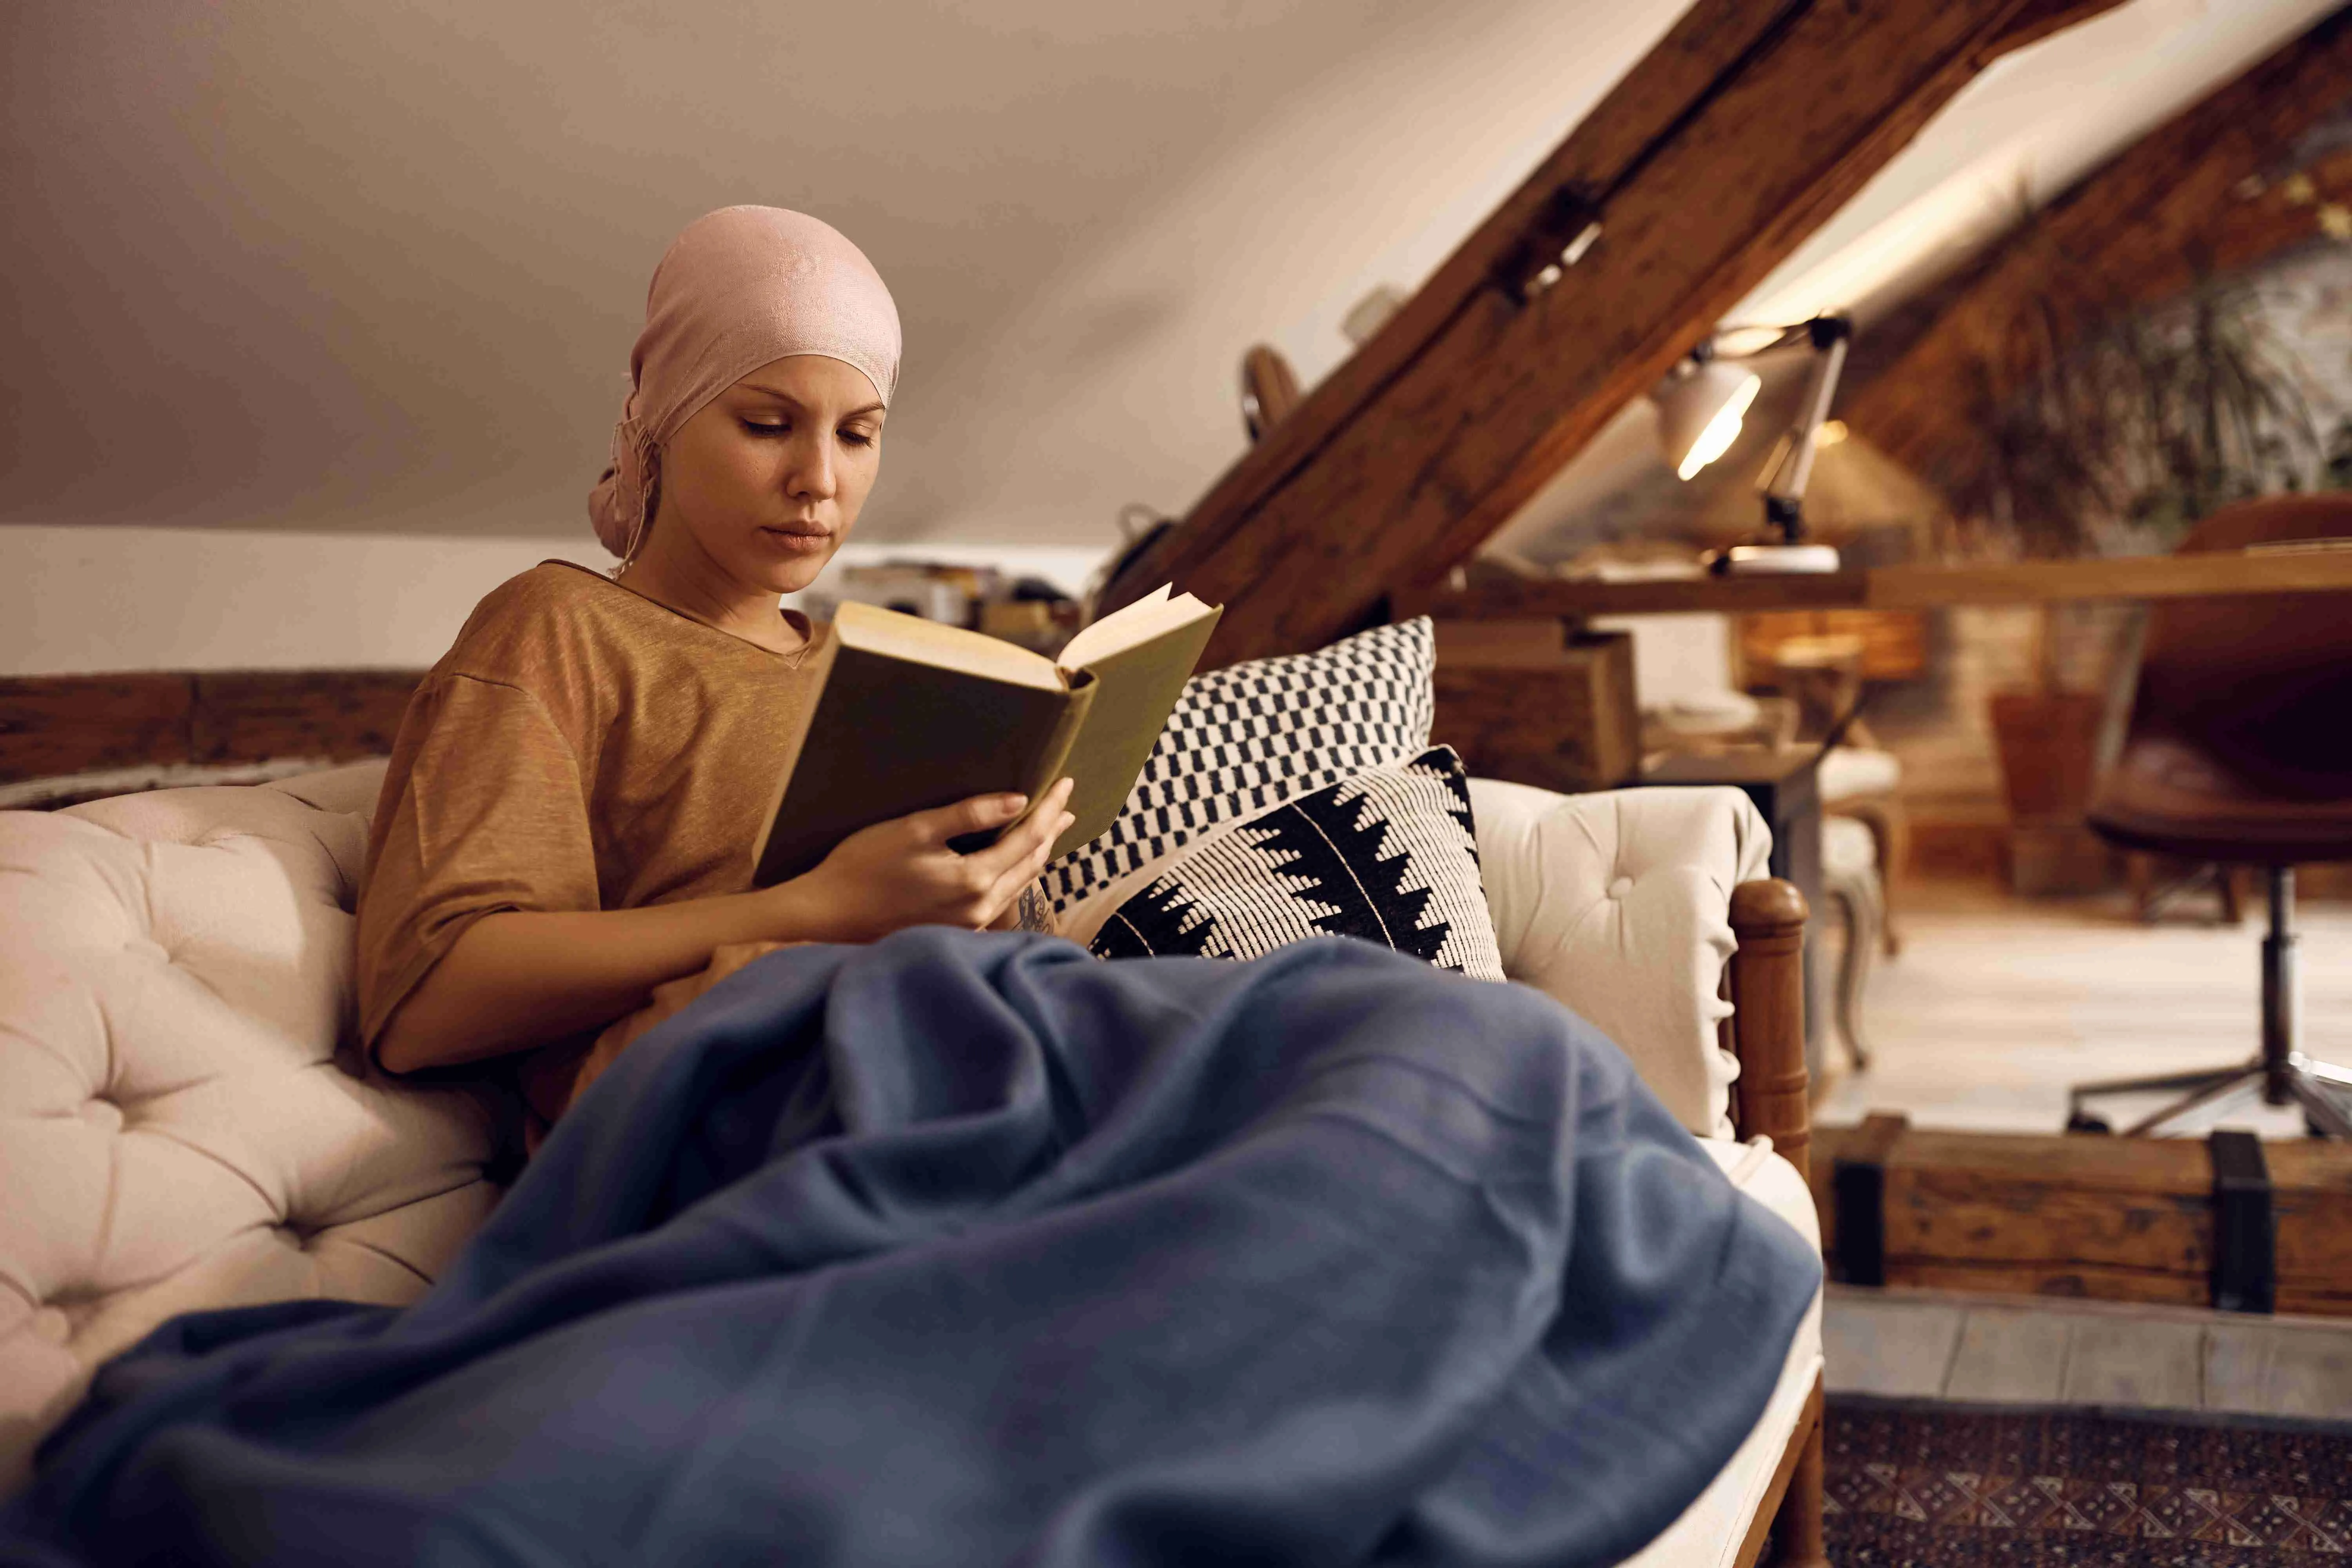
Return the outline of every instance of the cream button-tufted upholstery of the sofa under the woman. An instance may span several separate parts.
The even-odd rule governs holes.
[[[0,1495],[94,1366],[162,1319],[414,1300],[496,1201],[489,1110],[367,1077],[343,1048],[379,778],[0,811]],[[1769,851],[1748,799],[1477,780],[1472,809],[1505,971],[1621,1041],[1724,1171],[1818,1244],[1799,1171],[1733,1138],[1733,889]],[[1637,1563],[1755,1556],[1818,1375],[1816,1300],[1740,1455]]]

